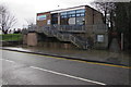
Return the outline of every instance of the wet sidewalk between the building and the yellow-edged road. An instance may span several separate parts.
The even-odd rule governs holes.
[[[131,55],[123,52],[110,52],[106,50],[71,50],[71,49],[51,49],[41,47],[2,47],[2,49],[21,51],[27,53],[36,53],[44,55],[60,57],[73,60],[83,60],[88,62],[100,62],[116,65],[129,65],[129,58]],[[131,62],[131,61],[130,61]]]

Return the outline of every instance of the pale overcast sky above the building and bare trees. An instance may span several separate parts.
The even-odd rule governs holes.
[[[93,0],[0,0],[0,4],[8,7],[11,14],[17,18],[17,23],[12,28],[23,28],[27,25],[27,21],[35,23],[36,13],[85,5],[92,1]]]

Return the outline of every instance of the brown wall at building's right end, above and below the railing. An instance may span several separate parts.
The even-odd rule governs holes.
[[[92,38],[94,42],[94,48],[105,49],[108,46],[108,34],[106,28],[95,28],[92,25],[104,25],[103,14],[90,7],[85,8],[85,25],[86,34],[85,38]],[[91,25],[91,26],[90,26]],[[104,41],[98,42],[97,35],[104,35]]]

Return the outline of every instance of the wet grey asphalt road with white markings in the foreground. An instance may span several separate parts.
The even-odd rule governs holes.
[[[2,51],[4,85],[129,85],[129,70],[114,65]]]

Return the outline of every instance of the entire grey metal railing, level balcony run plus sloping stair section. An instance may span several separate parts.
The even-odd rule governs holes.
[[[70,41],[73,45],[75,45],[79,48],[87,49],[90,47],[87,40],[82,40],[72,34],[62,34],[62,32],[68,32],[68,30],[79,30],[79,32],[96,32],[96,30],[106,30],[107,26],[105,24],[103,25],[45,25],[45,26],[31,26],[28,29],[25,30],[25,33],[28,32],[38,32],[38,33],[44,33],[48,37],[56,37],[61,41]]]

